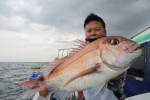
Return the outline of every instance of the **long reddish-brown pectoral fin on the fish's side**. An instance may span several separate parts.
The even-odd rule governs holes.
[[[100,64],[97,63],[94,67],[92,68],[89,68],[89,69],[86,69],[80,73],[78,73],[77,75],[75,75],[74,77],[72,77],[69,81],[66,82],[66,84],[64,86],[66,86],[67,84],[69,84],[71,81],[79,78],[79,77],[82,77],[82,76],[85,76],[85,75],[88,75],[88,74],[91,74],[93,72],[101,72],[100,71]]]

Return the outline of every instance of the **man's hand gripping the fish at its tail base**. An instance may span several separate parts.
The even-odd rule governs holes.
[[[37,81],[43,81],[43,79],[44,79],[44,76],[41,75],[41,76],[38,76],[38,78],[37,78],[36,80],[37,80]],[[47,95],[48,95],[48,93],[49,93],[49,91],[46,90],[45,85],[43,85],[43,86],[40,87],[40,89],[39,89],[39,94],[40,94],[41,97],[46,98]]]

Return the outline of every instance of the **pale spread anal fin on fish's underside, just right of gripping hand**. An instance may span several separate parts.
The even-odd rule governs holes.
[[[53,94],[52,97],[56,98],[57,100],[71,100],[72,96],[74,95],[74,92],[60,91],[50,87],[48,90],[50,90],[50,94]]]

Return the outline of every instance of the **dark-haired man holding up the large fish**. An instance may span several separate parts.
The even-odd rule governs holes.
[[[84,21],[84,31],[85,31],[85,40],[87,42],[93,42],[101,37],[106,36],[106,26],[105,22],[99,16],[91,13],[87,16]],[[102,94],[98,93],[95,97],[92,98],[92,92],[94,92],[94,88],[87,89],[85,91],[76,92],[78,100],[124,100],[125,94],[123,91],[124,85],[124,73],[119,75],[118,77],[110,80],[108,84],[108,88]],[[38,77],[38,81],[42,80],[42,76]],[[46,97],[48,92],[45,86],[42,86],[39,89],[39,93],[41,96]],[[115,94],[115,95],[114,95]],[[118,99],[117,99],[118,98]]]

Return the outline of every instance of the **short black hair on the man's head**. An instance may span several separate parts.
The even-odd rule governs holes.
[[[87,18],[84,21],[84,28],[91,21],[98,21],[98,22],[100,22],[102,24],[102,26],[104,27],[104,29],[106,28],[104,20],[101,17],[99,17],[96,14],[94,14],[94,13],[91,13],[91,14],[89,14],[87,16]]]

